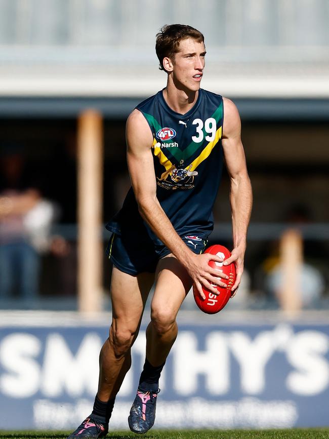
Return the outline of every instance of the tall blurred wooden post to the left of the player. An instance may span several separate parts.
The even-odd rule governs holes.
[[[77,128],[78,309],[102,308],[103,122],[95,110],[78,117]]]

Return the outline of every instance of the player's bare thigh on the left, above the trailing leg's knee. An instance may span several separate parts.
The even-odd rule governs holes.
[[[111,278],[112,326],[135,332],[140,324],[144,306],[154,282],[154,273],[136,276],[113,266]]]

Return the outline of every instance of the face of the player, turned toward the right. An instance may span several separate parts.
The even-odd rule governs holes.
[[[200,88],[204,69],[205,47],[193,38],[183,39],[179,44],[179,51],[173,59],[173,79],[187,90],[196,91]]]

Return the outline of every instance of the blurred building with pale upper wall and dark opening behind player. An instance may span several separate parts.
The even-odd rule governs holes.
[[[10,292],[6,281],[2,306],[76,308],[78,117],[94,108],[103,118],[106,222],[129,187],[126,117],[165,86],[155,34],[174,22],[204,33],[202,87],[233,99],[242,119],[254,209],[241,306],[278,305],[279,277],[274,280],[271,273],[278,268],[280,235],[294,223],[302,231],[305,263],[315,270],[307,276],[311,292],[304,292],[305,306],[324,306],[329,288],[328,21],[325,0],[2,0],[1,161],[8,167],[11,154],[24,164],[16,182],[2,174],[2,234],[13,201],[8,191],[37,193],[49,208],[41,247],[26,230],[22,238],[23,216],[37,207],[36,199],[19,220],[25,250],[28,246],[37,257],[29,268],[38,277],[31,300],[20,300],[28,293],[16,278]],[[224,175],[212,239],[230,246],[228,190]],[[103,235],[105,245],[108,235]],[[1,240],[4,249],[6,240]],[[14,256],[12,261],[23,267]],[[104,264],[107,298],[110,267]]]

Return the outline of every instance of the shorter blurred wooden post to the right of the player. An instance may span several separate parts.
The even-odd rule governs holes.
[[[282,284],[278,299],[283,312],[294,316],[302,308],[301,270],[303,263],[303,240],[296,229],[286,230],[280,240],[280,266]]]

